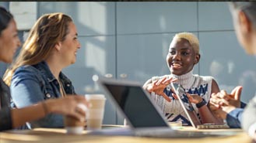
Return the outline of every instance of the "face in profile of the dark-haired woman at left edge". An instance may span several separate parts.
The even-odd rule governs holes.
[[[0,35],[0,60],[12,63],[12,58],[20,45],[16,22],[12,19]]]

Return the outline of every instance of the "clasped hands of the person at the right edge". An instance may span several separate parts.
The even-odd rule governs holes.
[[[240,107],[240,94],[242,87],[235,87],[231,94],[227,94],[225,90],[219,93],[213,93],[210,99],[210,109],[216,117],[226,119],[226,114]]]

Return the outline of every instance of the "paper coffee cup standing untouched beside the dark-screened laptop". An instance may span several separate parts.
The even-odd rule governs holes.
[[[86,94],[90,106],[86,112],[86,126],[88,130],[101,129],[106,98],[103,94]]]

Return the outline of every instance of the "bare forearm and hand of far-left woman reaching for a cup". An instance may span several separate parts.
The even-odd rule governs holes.
[[[68,106],[66,106],[67,104]],[[86,112],[77,107],[78,104],[87,105],[85,97],[67,96],[60,99],[46,100],[29,107],[13,109],[11,111],[12,128],[17,128],[25,124],[26,121],[34,121],[51,113],[65,114],[80,121],[85,121]]]

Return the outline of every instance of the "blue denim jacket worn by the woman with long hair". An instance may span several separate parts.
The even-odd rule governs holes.
[[[65,93],[75,94],[68,77],[60,73],[59,78]],[[43,100],[61,97],[58,80],[51,73],[46,62],[19,67],[12,77],[11,94],[16,107],[26,107]],[[30,122],[30,126],[31,128],[61,128],[63,117],[61,114],[48,114],[38,121]]]

